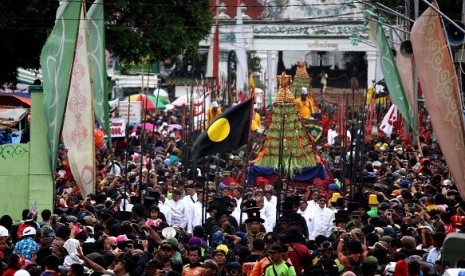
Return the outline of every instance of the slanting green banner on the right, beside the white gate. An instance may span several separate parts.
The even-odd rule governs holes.
[[[386,85],[391,95],[391,101],[397,106],[404,119],[410,125],[414,132],[417,132],[417,123],[409,112],[409,104],[405,94],[404,86],[400,78],[399,69],[392,54],[389,42],[384,34],[381,24],[376,24],[376,42],[381,52],[381,71],[383,72]]]

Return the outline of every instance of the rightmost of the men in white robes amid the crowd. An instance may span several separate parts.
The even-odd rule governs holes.
[[[311,218],[311,223],[308,229],[309,240],[315,240],[315,237],[319,235],[329,237],[331,234],[334,212],[326,207],[326,202],[326,197],[320,195],[318,199],[318,207],[314,210],[314,216]]]

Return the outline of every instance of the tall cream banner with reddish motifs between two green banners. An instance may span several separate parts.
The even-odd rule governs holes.
[[[74,180],[85,197],[95,190],[94,111],[88,57],[87,20],[81,11],[63,141]]]

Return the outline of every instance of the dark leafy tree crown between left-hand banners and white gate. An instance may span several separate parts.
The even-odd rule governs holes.
[[[105,3],[107,48],[126,63],[153,63],[196,50],[213,24],[208,0]]]

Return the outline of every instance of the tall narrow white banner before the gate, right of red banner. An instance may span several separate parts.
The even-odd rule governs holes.
[[[245,48],[244,24],[242,23],[242,10],[240,0],[237,0],[236,57],[237,65],[239,66],[239,70],[237,71],[237,83],[243,84],[244,87],[241,87],[240,89],[244,89],[244,91],[247,91],[247,76],[249,75],[249,69],[247,66],[247,50]],[[239,93],[239,91],[237,92]]]

